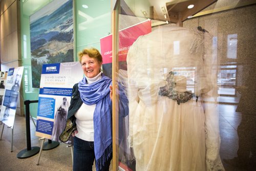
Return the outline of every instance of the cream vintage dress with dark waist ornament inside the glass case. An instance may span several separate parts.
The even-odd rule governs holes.
[[[136,170],[224,170],[211,42],[208,33],[166,25],[131,46],[128,139]],[[191,74],[195,84],[189,91]]]

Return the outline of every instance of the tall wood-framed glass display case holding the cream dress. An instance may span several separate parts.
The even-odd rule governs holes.
[[[255,4],[115,2],[114,170],[255,168]]]

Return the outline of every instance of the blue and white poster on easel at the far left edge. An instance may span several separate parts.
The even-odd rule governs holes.
[[[23,70],[24,67],[10,68],[7,74],[6,82],[4,82],[4,85],[1,84],[5,92],[2,97],[0,120],[9,127],[13,127],[14,124]]]

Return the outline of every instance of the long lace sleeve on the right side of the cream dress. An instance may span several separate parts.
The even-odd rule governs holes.
[[[205,112],[205,143],[207,170],[225,170],[220,158],[219,114],[217,111],[217,74],[218,59],[212,51],[212,36],[204,34],[204,66],[205,74],[211,83],[211,89],[202,94]]]

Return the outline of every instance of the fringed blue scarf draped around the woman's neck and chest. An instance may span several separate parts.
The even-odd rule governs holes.
[[[84,77],[78,83],[82,101],[88,105],[96,104],[93,123],[97,170],[105,165],[112,153],[112,101],[109,88],[111,84],[112,80],[104,74],[96,82],[88,84],[86,77]]]

